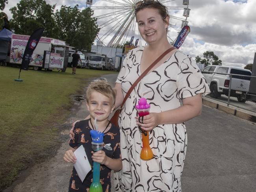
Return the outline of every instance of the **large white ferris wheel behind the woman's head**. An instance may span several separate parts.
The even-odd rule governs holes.
[[[138,45],[145,45],[139,35],[134,14],[134,5],[140,0],[99,0],[94,4],[87,0],[87,6],[94,10],[100,31],[97,45],[117,47],[130,39],[138,39]],[[176,41],[180,30],[188,24],[189,0],[158,0],[167,7],[170,15],[167,37],[171,44]]]

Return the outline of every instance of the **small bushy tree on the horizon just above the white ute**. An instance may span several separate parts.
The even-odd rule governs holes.
[[[203,63],[204,66],[208,65],[222,65],[222,61],[219,59],[217,55],[214,54],[213,51],[206,51],[203,54],[203,59],[199,56],[196,57],[197,63]]]

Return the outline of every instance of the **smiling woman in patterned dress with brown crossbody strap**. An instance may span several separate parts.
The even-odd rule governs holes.
[[[147,46],[127,54],[115,85],[116,106],[147,67],[172,46],[167,40],[169,15],[163,5],[154,0],[138,2],[135,16]],[[181,191],[187,146],[184,122],[201,113],[205,92],[209,88],[196,63],[178,50],[167,54],[137,84],[119,116],[123,191]],[[138,122],[135,105],[141,97],[150,103],[150,114]],[[150,161],[140,158],[138,125],[151,131],[154,158]]]

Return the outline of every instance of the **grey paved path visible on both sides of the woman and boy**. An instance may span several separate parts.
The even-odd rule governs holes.
[[[116,76],[108,75],[109,82]],[[112,84],[113,85],[113,84]],[[63,144],[51,159],[22,172],[4,192],[67,192],[72,164],[63,161],[72,122],[87,116],[85,102],[63,125]],[[74,110],[77,107],[74,107]],[[256,124],[204,106],[186,122],[187,155],[182,192],[255,192]]]

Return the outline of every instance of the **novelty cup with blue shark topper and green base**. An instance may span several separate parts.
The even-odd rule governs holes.
[[[100,131],[91,130],[90,131],[92,142],[91,147],[93,151],[102,150],[104,146],[103,136],[104,133]],[[90,186],[90,192],[102,192],[102,186],[100,183],[100,163],[93,161],[93,183]]]

